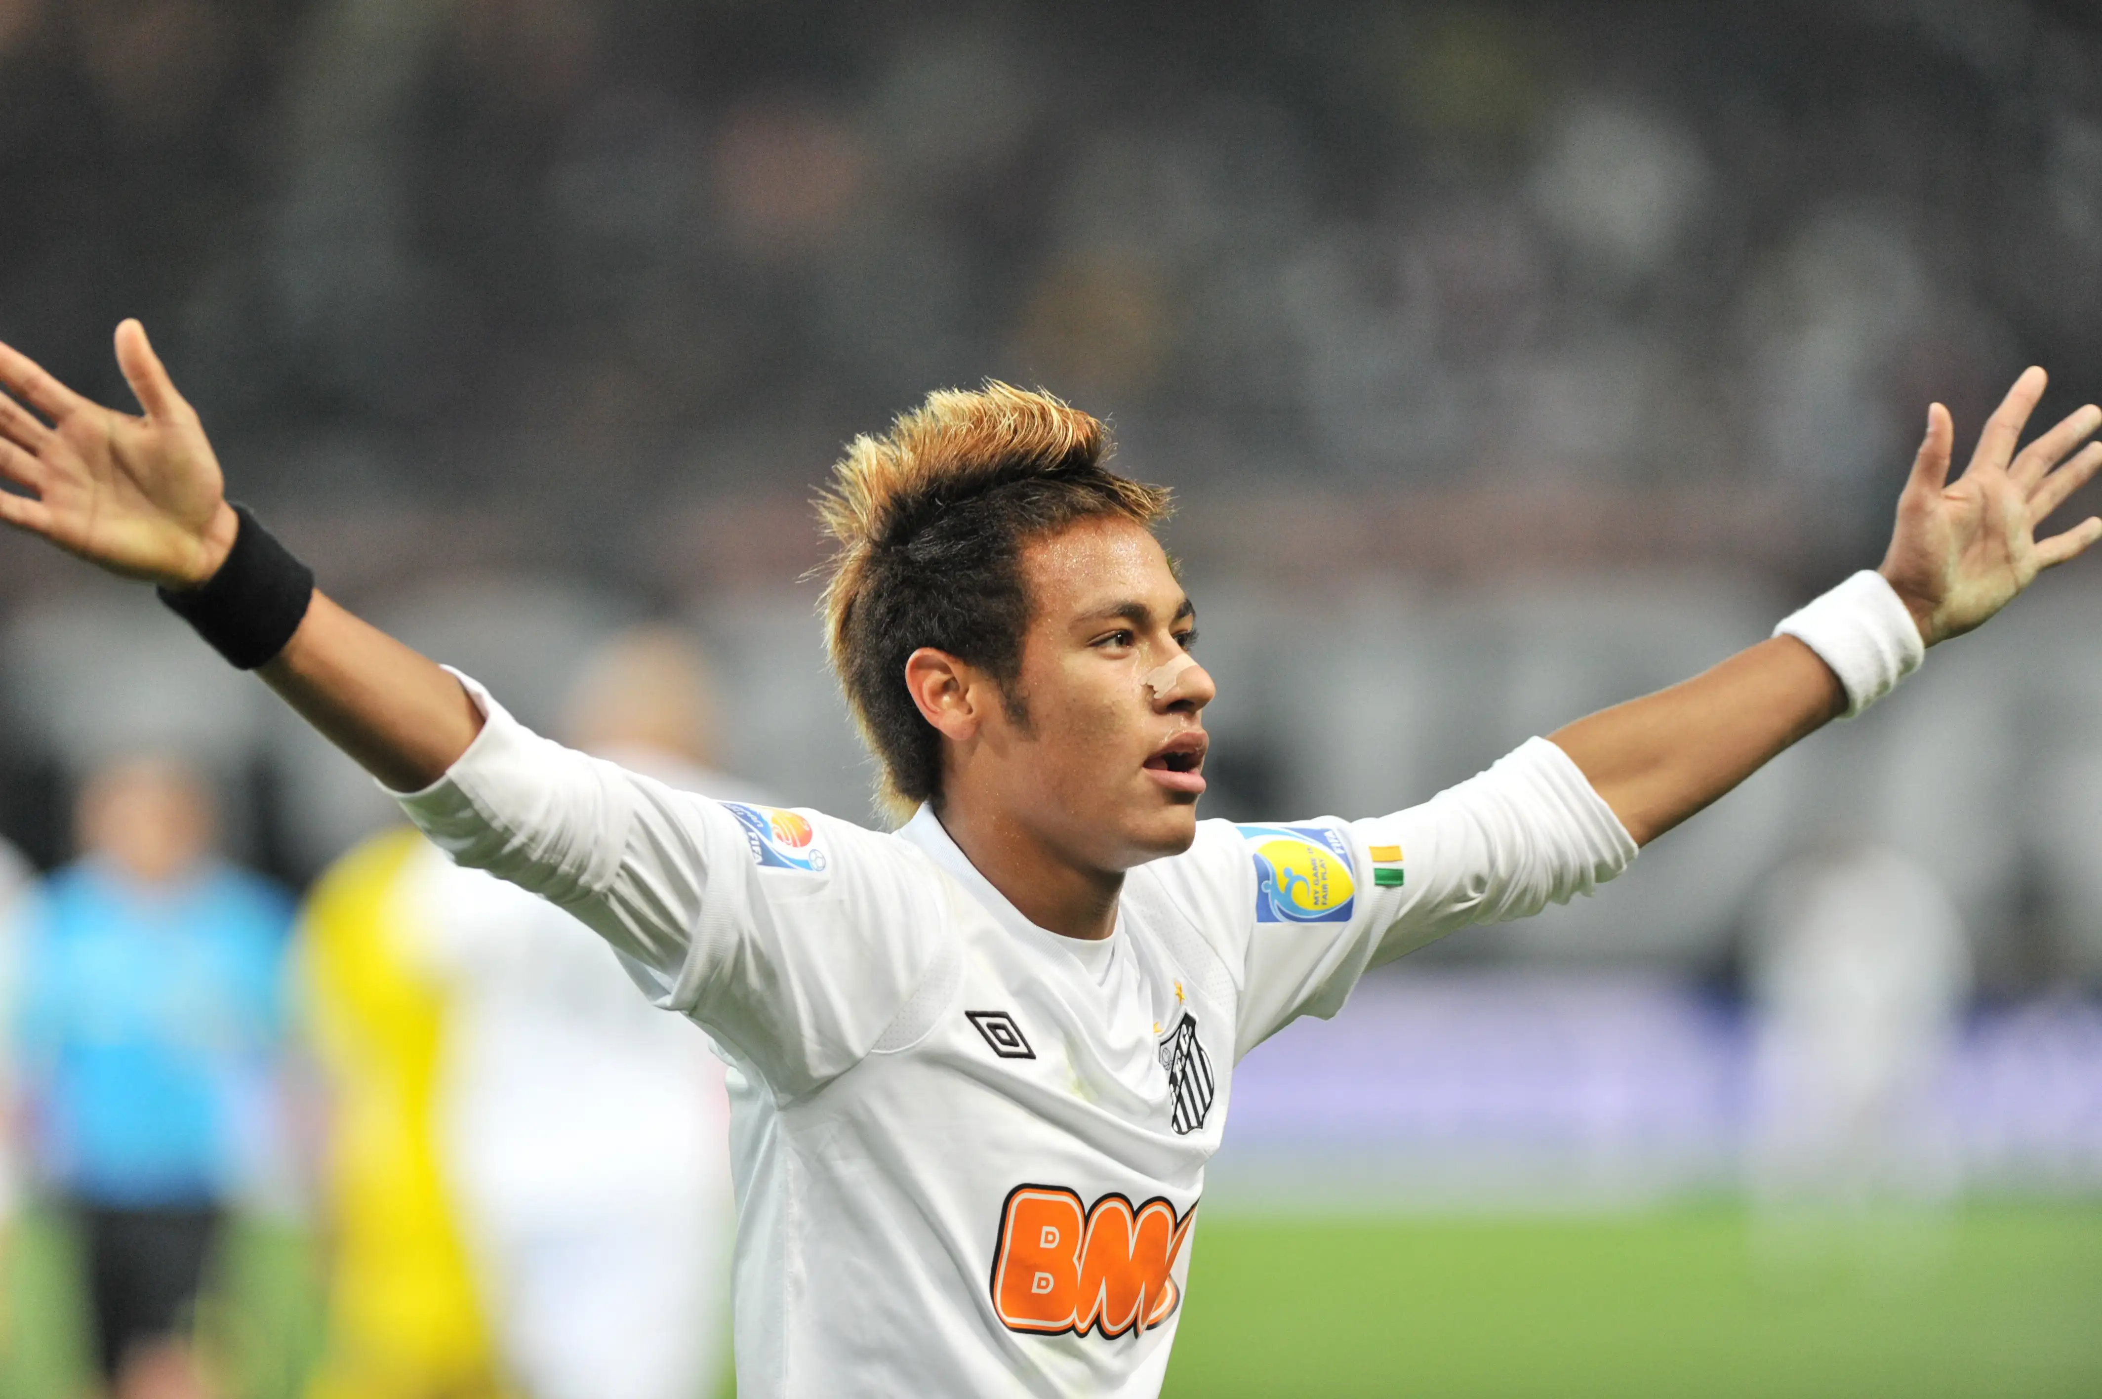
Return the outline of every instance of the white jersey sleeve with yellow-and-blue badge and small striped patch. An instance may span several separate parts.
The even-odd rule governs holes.
[[[1627,869],[1635,842],[1568,753],[1532,738],[1423,806],[1223,827],[1190,854],[1246,900],[1230,924],[1246,938],[1246,1054],[1299,1016],[1333,1016],[1381,961],[1589,894]]]

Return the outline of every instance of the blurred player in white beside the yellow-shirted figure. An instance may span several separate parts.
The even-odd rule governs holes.
[[[679,791],[755,799],[713,768],[708,669],[671,627],[601,648],[563,728]],[[458,1006],[437,1130],[513,1378],[534,1399],[710,1393],[736,1229],[723,1062],[561,909],[435,848],[406,879]]]

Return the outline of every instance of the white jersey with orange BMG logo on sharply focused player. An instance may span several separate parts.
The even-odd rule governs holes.
[[[738,1393],[1154,1395],[1234,1065],[1368,966],[1610,879],[1635,844],[1534,738],[1373,820],[1198,823],[1101,942],[921,810],[879,835],[488,722],[401,806],[605,936],[729,1056]]]

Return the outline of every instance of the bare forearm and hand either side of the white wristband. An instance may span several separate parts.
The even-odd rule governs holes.
[[[2037,541],[2037,526],[2102,467],[2102,444],[2075,452],[2102,408],[2085,406],[2016,452],[2043,398],[2031,368],[1978,438],[1963,475],[1949,482],[1955,427],[1928,410],[1928,438],[1898,496],[1890,551],[1877,570],[1928,646],[1978,627],[2035,576],[2102,539],[2102,520]],[[1549,738],[1640,844],[1724,795],[1785,747],[1848,709],[1837,673],[1793,635],[1730,656],[1711,671],[1612,709]]]

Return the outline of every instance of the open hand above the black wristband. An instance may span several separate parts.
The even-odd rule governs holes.
[[[137,320],[118,326],[118,366],[143,417],[92,404],[0,345],[0,385],[15,396],[0,398],[0,475],[32,492],[0,492],[0,520],[126,579],[198,587],[240,528],[219,459]]]

